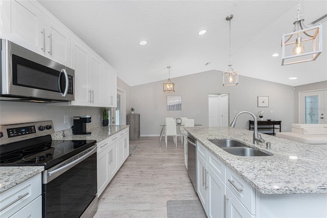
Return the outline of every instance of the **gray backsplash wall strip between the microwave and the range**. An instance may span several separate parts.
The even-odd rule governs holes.
[[[91,115],[92,123],[99,123],[102,119],[99,117],[99,107],[52,106],[43,103],[0,101],[0,108],[1,125],[52,120],[55,131],[71,128],[74,124],[74,116]],[[63,123],[65,115],[68,116],[68,123]]]

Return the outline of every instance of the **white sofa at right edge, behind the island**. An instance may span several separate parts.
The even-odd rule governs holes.
[[[277,137],[327,148],[327,124],[292,124],[292,132],[276,133]]]

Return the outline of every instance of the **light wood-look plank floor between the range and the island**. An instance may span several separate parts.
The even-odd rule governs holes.
[[[141,137],[134,154],[101,194],[94,217],[167,217],[168,200],[197,200],[184,165],[184,148],[169,137]]]

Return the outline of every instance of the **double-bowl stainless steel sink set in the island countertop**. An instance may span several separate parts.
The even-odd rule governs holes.
[[[241,142],[232,139],[209,139],[209,141],[211,141],[212,143],[214,143],[215,145],[217,145],[218,147],[222,148],[223,150],[225,150],[226,152],[232,155],[246,156],[246,157],[271,156],[266,154],[265,152],[249,147]]]

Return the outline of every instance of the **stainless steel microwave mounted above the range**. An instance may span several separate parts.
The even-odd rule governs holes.
[[[1,98],[7,101],[73,101],[75,71],[1,39]]]

